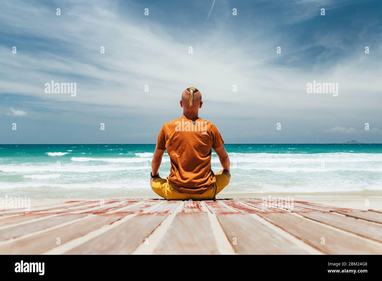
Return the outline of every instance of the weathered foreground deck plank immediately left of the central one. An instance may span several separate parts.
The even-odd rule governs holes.
[[[140,213],[109,231],[65,252],[70,255],[128,255],[168,216]]]

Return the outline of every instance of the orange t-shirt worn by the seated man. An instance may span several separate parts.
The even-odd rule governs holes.
[[[171,170],[167,180],[179,192],[201,194],[215,183],[211,170],[211,147],[224,143],[214,124],[201,118],[185,116],[165,123],[159,132],[157,149],[170,156]]]

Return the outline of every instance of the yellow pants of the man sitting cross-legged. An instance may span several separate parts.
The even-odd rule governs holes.
[[[167,182],[167,179],[161,177],[155,179],[152,182],[151,188],[157,193],[160,197],[163,197],[167,200],[212,200],[215,196],[223,190],[230,182],[228,176],[223,173],[217,173],[215,175],[216,182],[210,190],[202,194],[187,194],[178,192],[173,188],[172,184]]]

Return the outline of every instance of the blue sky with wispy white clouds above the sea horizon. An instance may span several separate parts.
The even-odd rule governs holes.
[[[0,143],[155,143],[190,86],[226,143],[382,142],[381,1],[212,3],[2,2]]]

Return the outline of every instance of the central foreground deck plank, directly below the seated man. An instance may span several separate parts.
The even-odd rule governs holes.
[[[154,254],[219,254],[207,213],[176,214]]]

